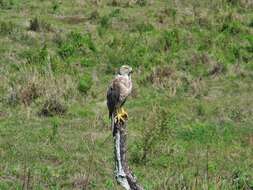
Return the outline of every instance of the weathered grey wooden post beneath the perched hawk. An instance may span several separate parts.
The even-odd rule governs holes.
[[[117,182],[126,190],[144,190],[137,183],[136,177],[127,164],[127,130],[126,121],[112,122],[114,137],[114,159],[115,159],[115,178]]]

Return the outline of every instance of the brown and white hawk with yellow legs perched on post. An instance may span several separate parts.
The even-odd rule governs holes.
[[[122,106],[132,92],[132,73],[132,67],[128,65],[121,66],[117,75],[108,87],[107,107],[109,110],[109,118],[112,119],[112,121],[125,122],[128,118],[128,113]]]

